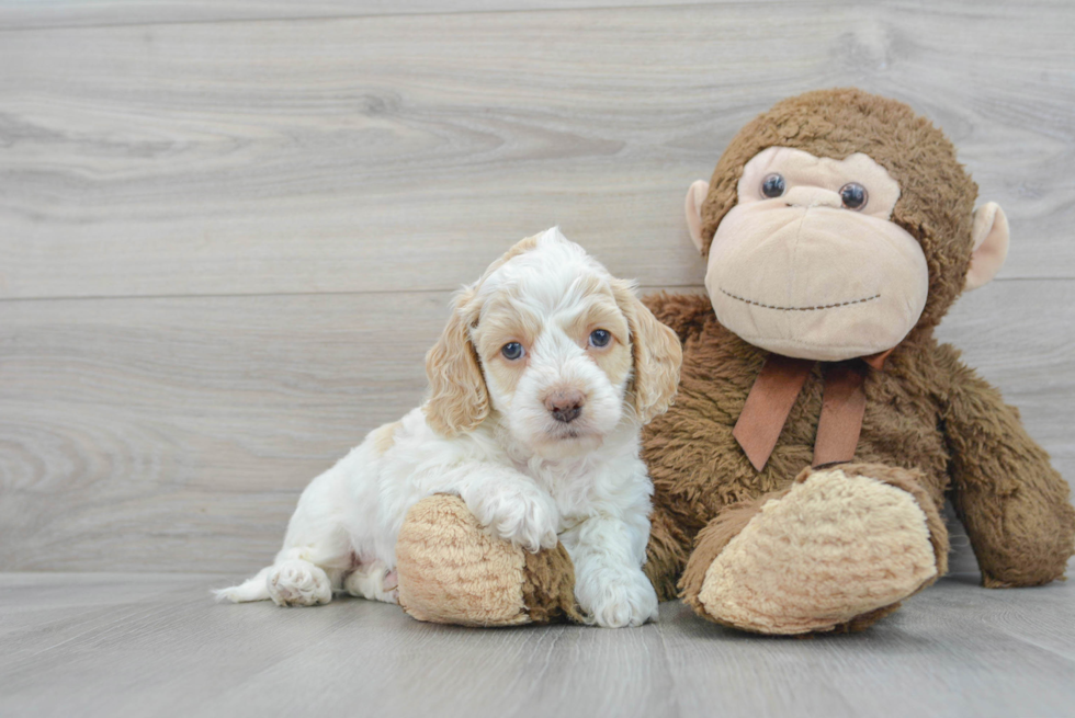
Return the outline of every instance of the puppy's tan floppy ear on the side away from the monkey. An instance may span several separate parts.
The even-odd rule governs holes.
[[[468,287],[456,296],[444,333],[426,354],[426,420],[448,437],[474,429],[489,414],[489,391],[471,342],[471,324],[477,319],[474,295]]]

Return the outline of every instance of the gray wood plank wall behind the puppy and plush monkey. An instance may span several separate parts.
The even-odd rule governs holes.
[[[559,224],[698,290],[689,183],[847,84],[1007,210],[941,333],[1075,476],[1075,5],[569,4],[0,0],[0,570],[258,567],[454,287]]]

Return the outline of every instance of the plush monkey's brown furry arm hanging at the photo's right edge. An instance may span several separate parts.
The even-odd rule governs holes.
[[[987,588],[1040,585],[1064,574],[1075,551],[1067,482],[1000,392],[938,350],[948,384],[942,420],[954,480],[952,503],[971,538]]]

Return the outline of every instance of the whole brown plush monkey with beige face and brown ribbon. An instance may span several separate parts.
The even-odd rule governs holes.
[[[691,187],[709,296],[648,301],[683,342],[676,403],[645,441],[661,599],[757,632],[864,628],[946,571],[946,497],[986,586],[1063,575],[1067,485],[933,338],[1007,252],[1004,213],[975,212],[976,194],[940,130],[857,90],[780,102]],[[412,615],[579,619],[562,549],[501,568],[452,499],[418,504],[399,540]],[[425,565],[445,540],[459,560]],[[518,586],[523,607],[491,616],[474,577]]]

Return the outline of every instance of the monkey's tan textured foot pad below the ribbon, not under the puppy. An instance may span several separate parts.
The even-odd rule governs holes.
[[[924,510],[912,495],[920,491],[910,477],[870,465],[803,471],[727,542],[690,602],[717,623],[761,634],[871,625],[936,579],[939,562],[944,570],[935,552],[943,525],[928,498]]]

